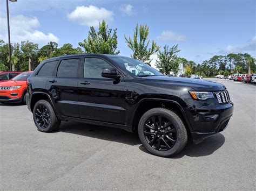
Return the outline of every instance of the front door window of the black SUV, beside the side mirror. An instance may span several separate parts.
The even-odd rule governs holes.
[[[90,78],[104,78],[102,77],[102,70],[104,68],[112,68],[106,61],[98,58],[84,59],[84,77]]]

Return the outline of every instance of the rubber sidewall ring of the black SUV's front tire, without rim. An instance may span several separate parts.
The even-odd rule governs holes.
[[[145,136],[144,136],[144,124],[146,122],[146,120],[152,116],[156,116],[156,115],[162,115],[164,117],[166,117],[167,119],[170,119],[173,124],[176,126],[176,131],[177,131],[177,141],[175,143],[175,145],[170,149],[170,150],[167,150],[167,151],[157,151],[155,150],[154,148],[152,148],[146,141],[145,139]],[[180,150],[180,147],[183,146],[183,139],[185,138],[184,137],[184,133],[183,133],[183,128],[181,127],[181,125],[183,124],[180,124],[179,121],[177,121],[177,119],[169,114],[168,112],[166,111],[147,111],[143,116],[142,118],[140,118],[140,121],[139,121],[139,125],[138,125],[138,133],[139,133],[139,138],[141,140],[141,142],[143,143],[143,145],[146,147],[146,149],[148,151],[150,151],[152,154],[155,154],[155,155],[159,155],[161,157],[168,157],[170,155],[173,155],[173,154],[176,154],[177,151],[179,152]]]

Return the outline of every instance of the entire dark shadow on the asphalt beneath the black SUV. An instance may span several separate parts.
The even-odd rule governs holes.
[[[151,154],[142,145],[137,133],[127,132],[122,129],[69,121],[62,122],[59,129],[55,131],[55,133],[56,132],[72,133],[79,136],[109,140],[111,142],[118,142],[131,146],[140,145],[139,149],[141,151]],[[184,157],[185,155],[188,157],[204,157],[206,155],[211,155],[217,151],[224,144],[224,142],[225,137],[220,133],[206,138],[198,145],[194,145],[191,141],[189,141],[178,155],[171,158],[178,159]]]

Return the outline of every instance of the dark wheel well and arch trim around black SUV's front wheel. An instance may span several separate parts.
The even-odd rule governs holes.
[[[179,117],[181,117],[181,119],[183,120],[183,122],[188,130],[188,133],[191,133],[192,132],[191,124],[188,121],[188,118],[185,114],[185,111],[183,110],[183,107],[181,107],[181,104],[183,105],[185,103],[184,102],[179,103],[176,100],[166,100],[166,99],[159,99],[159,98],[143,98],[142,100],[140,100],[138,102],[135,112],[133,112],[133,116],[132,116],[133,132],[137,131],[139,119],[142,117],[142,115],[146,111],[153,109],[153,108],[160,107],[160,108],[170,109],[170,110],[176,112],[176,114]]]

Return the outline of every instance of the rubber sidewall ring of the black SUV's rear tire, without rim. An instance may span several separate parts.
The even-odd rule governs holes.
[[[38,107],[38,105],[44,105],[44,107],[49,111],[49,114],[50,114],[50,123],[49,123],[48,127],[45,128],[45,129],[41,128],[41,126],[39,126],[36,122],[36,108]],[[35,104],[35,107],[33,108],[33,120],[35,122],[35,125],[36,125],[38,131],[48,132],[49,129],[51,129],[51,126],[52,126],[52,109],[50,107],[51,107],[50,103],[48,101],[45,101],[45,100],[40,100]]]

